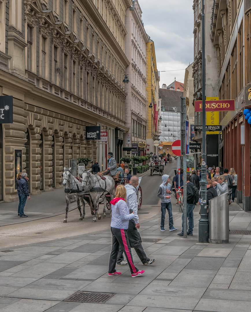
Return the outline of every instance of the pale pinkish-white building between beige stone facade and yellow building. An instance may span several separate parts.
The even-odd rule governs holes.
[[[126,12],[126,56],[130,61],[127,74],[130,82],[125,86],[128,93],[126,98],[126,126],[131,144],[146,142],[147,125],[147,51],[148,36],[142,23],[142,11],[138,1]],[[129,142],[129,141],[128,141]],[[128,147],[131,146],[128,144]],[[130,146],[129,146],[130,145]],[[146,148],[145,151],[146,152]],[[143,153],[143,152],[142,152]],[[144,154],[144,153],[143,153]]]

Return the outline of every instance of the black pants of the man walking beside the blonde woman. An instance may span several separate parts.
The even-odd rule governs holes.
[[[141,237],[140,234],[136,228],[136,224],[134,220],[130,220],[128,224],[128,229],[127,229],[127,236],[129,239],[129,243],[131,248],[134,248],[136,251],[140,261],[145,264],[147,263],[150,259],[147,257],[144,248],[141,243]],[[117,263],[120,263],[121,261],[124,260],[123,257],[123,250],[121,247],[119,247],[118,251],[118,257],[117,257]]]

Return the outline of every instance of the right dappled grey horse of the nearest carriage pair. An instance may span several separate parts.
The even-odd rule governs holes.
[[[91,170],[85,170],[81,177],[82,183],[81,186],[84,192],[90,194],[91,200],[94,207],[94,218],[93,222],[96,222],[96,215],[98,219],[101,219],[99,214],[99,198],[101,197],[104,201],[103,217],[105,217],[105,207],[106,207],[106,198],[105,194],[110,193],[111,199],[115,197],[115,183],[112,177],[106,175],[103,178],[100,178],[97,174],[91,174]]]

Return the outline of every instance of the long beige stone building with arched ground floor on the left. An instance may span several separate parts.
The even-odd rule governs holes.
[[[130,0],[0,1],[0,95],[13,96],[13,124],[0,124],[0,200],[18,199],[20,171],[28,173],[32,195],[53,191],[69,159],[102,154],[105,162],[116,135],[123,142],[130,6]],[[85,127],[98,124],[109,133],[106,151],[85,139]]]

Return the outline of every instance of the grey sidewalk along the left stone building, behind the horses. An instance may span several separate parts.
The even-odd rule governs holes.
[[[148,172],[140,173],[137,176],[142,177]],[[28,218],[17,216],[18,202],[0,203],[0,226],[24,223],[39,220],[47,217],[53,217],[65,213],[65,188],[55,188],[52,192],[42,192],[40,195],[31,195],[27,200],[24,213]],[[72,202],[69,205],[69,211],[77,208],[77,203]]]

